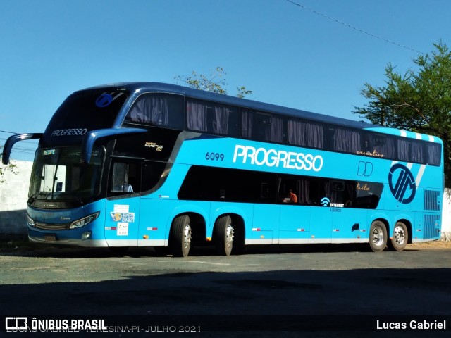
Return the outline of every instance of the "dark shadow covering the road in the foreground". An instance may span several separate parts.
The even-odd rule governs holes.
[[[378,268],[168,272],[100,282],[27,284],[24,280],[24,284],[0,285],[0,312],[7,316],[449,315],[450,279],[451,268]]]

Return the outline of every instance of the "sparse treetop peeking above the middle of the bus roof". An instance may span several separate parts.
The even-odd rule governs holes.
[[[174,77],[176,82],[183,82],[188,87],[194,89],[205,90],[206,92],[213,92],[218,94],[227,94],[226,87],[226,75],[222,67],[216,67],[214,72],[209,75],[197,74],[194,70],[190,76],[176,76]],[[245,86],[237,87],[236,96],[241,99],[246,95],[252,94],[252,90],[246,89]]]

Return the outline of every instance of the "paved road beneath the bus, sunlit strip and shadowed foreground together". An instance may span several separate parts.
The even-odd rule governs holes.
[[[277,246],[220,257],[202,249],[188,258],[152,249],[121,257],[99,249],[0,252],[0,315],[451,314],[450,247],[361,250]],[[421,333],[410,337],[443,332]],[[276,337],[271,334],[259,335]]]

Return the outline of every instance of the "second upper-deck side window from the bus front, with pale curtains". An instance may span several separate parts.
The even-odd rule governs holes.
[[[238,109],[210,101],[187,99],[187,129],[211,134],[238,135]]]

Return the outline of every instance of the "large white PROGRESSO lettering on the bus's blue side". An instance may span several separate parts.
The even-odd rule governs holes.
[[[295,153],[276,149],[254,148],[253,146],[235,146],[233,162],[242,160],[243,164],[266,165],[268,167],[296,170],[319,171],[323,168],[323,158],[319,155]]]

